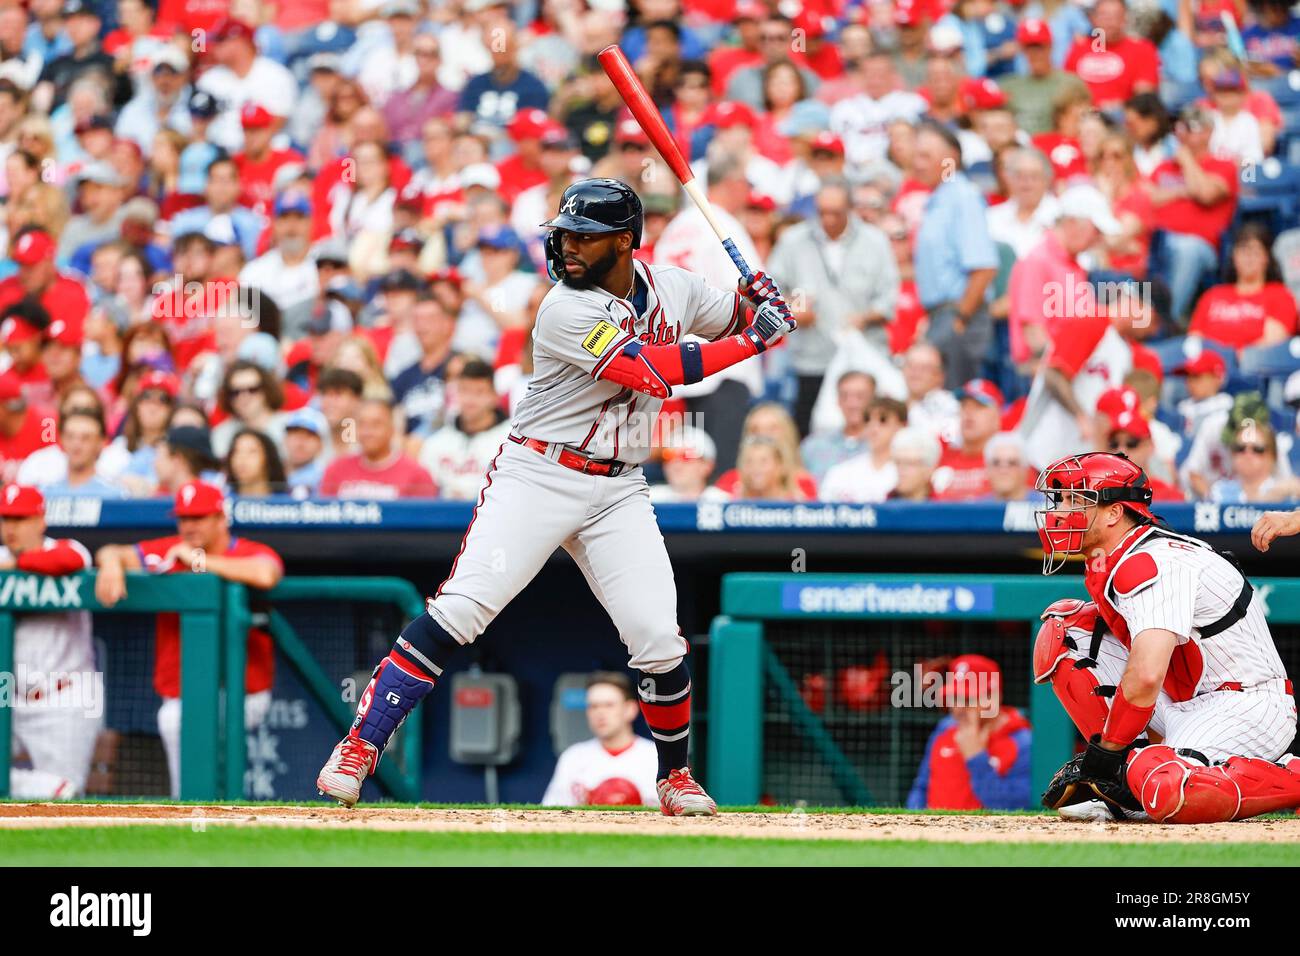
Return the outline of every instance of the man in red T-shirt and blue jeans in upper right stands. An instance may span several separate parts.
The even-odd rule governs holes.
[[[1214,120],[1186,107],[1174,124],[1174,157],[1152,170],[1156,221],[1165,230],[1165,280],[1174,321],[1186,321],[1201,278],[1218,265],[1218,243],[1236,213],[1238,169],[1210,153]]]

